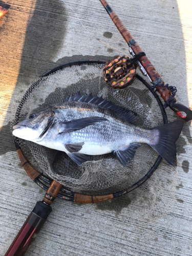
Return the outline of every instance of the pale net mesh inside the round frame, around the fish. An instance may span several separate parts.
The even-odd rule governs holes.
[[[132,110],[139,118],[134,123],[147,129],[163,124],[157,100],[142,82],[135,79],[131,86],[112,89],[103,78],[104,64],[82,63],[72,65],[38,79],[32,84],[19,106],[18,118],[13,125],[25,119],[26,115],[45,106],[61,103],[66,95],[92,93],[112,101],[115,105]],[[56,174],[50,167],[55,150],[36,143],[17,139],[29,162],[40,172],[47,174],[62,185],[76,191],[113,193],[130,187],[143,177],[155,163],[158,154],[147,144],[136,150],[135,157],[124,167],[113,155],[91,156],[89,162],[78,166],[66,153],[62,153],[54,166],[60,170]]]

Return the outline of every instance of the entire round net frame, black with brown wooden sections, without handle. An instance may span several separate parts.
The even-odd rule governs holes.
[[[29,95],[33,92],[34,88],[37,86],[38,82],[40,81],[40,79],[42,79],[43,77],[46,77],[52,73],[54,73],[55,71],[58,70],[62,70],[66,67],[72,67],[73,65],[82,65],[83,63],[88,63],[88,64],[105,64],[106,61],[103,60],[81,60],[81,61],[75,61],[75,62],[70,62],[67,63],[65,65],[61,65],[59,67],[56,67],[50,71],[48,71],[47,73],[45,73],[44,75],[42,75],[41,77],[39,77],[39,79],[37,81],[35,81],[34,83],[32,83],[31,87],[27,90],[27,92],[25,93],[25,95],[23,96],[22,100],[20,101],[20,104],[17,108],[16,111],[16,117],[15,120],[17,121],[19,118],[19,114],[20,111],[22,110],[22,106],[24,105],[25,101],[27,100],[27,98],[29,97]],[[148,84],[146,82],[146,80],[144,80],[140,75],[136,74],[136,78],[138,80],[140,80],[144,86],[153,94],[153,96],[156,98],[157,103],[159,105],[162,117],[163,117],[163,122],[167,123],[167,116],[166,116],[166,112],[163,108],[163,104],[159,98],[159,96],[156,94],[156,92],[153,91],[153,89],[151,88],[150,84]],[[16,145],[16,150],[18,152],[20,152],[20,155],[23,156],[22,160],[21,157],[19,156],[23,167],[25,168],[25,165],[27,163],[28,167],[30,166],[33,169],[33,173],[35,173],[35,175],[31,176],[30,172],[28,172],[28,170],[26,170],[26,172],[28,173],[28,175],[33,179],[33,181],[39,185],[41,188],[43,188],[44,190],[48,190],[49,186],[47,186],[48,184],[51,185],[51,183],[54,181],[53,179],[49,178],[48,176],[45,176],[44,174],[39,173],[30,163],[29,161],[25,158],[22,150],[20,149],[16,139],[15,139],[15,145]],[[127,193],[130,193],[132,190],[136,189],[137,187],[139,187],[141,184],[143,184],[145,181],[147,181],[152,174],[155,172],[155,170],[157,169],[157,167],[159,166],[160,162],[162,160],[161,156],[158,156],[157,159],[155,160],[155,163],[153,164],[153,166],[146,172],[146,174],[139,179],[136,183],[134,183],[132,186],[130,186],[127,189],[118,191],[116,193],[113,194],[99,194],[99,195],[88,195],[88,194],[79,194],[79,193],[75,193],[73,191],[70,191],[68,188],[66,188],[65,186],[61,186],[60,188],[60,192],[57,194],[58,198],[61,198],[63,200],[67,200],[67,201],[72,201],[72,202],[80,202],[80,203],[95,203],[95,202],[101,202],[101,201],[106,201],[106,200],[110,200],[112,198],[115,197],[119,197],[121,195],[125,195]],[[26,165],[26,166],[27,166]],[[26,169],[26,168],[25,168]]]

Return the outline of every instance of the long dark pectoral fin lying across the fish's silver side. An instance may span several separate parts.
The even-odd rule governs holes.
[[[74,132],[96,122],[103,122],[106,120],[108,119],[104,117],[85,117],[68,122],[61,122],[59,123],[59,133]]]

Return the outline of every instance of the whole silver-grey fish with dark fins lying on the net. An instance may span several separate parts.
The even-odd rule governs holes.
[[[134,122],[138,116],[102,97],[66,96],[59,104],[29,113],[13,126],[13,136],[65,152],[76,164],[90,155],[113,152],[123,166],[134,158],[142,144],[150,145],[168,164],[177,165],[175,145],[183,120],[144,129]]]

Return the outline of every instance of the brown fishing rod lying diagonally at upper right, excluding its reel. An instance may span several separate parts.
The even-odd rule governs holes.
[[[112,10],[108,2],[106,2],[105,0],[100,0],[100,2],[105,8],[106,12],[108,12],[109,16],[113,20],[113,23],[115,24],[122,37],[126,41],[127,45],[129,46],[130,54],[133,56],[132,61],[128,63],[130,67],[133,66],[133,61],[135,60],[142,74],[144,76],[147,76],[148,80],[150,80],[150,82],[153,84],[153,86],[151,86],[151,89],[156,90],[161,95],[161,98],[165,102],[164,108],[169,106],[169,108],[173,110],[183,120],[190,121],[192,119],[192,111],[185,105],[177,102],[175,98],[175,94],[177,92],[176,87],[168,86],[168,84],[165,84],[159,73],[152,65],[151,61],[147,58],[145,53],[142,52],[141,48],[132,37],[131,33],[125,28],[120,18]],[[182,112],[184,112],[186,116],[183,115]]]

